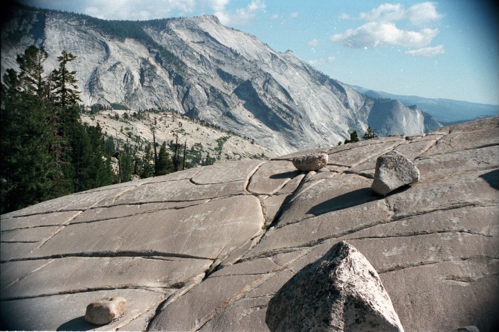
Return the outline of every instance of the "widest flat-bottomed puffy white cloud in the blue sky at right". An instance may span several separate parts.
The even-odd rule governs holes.
[[[430,44],[438,32],[438,29],[430,28],[419,31],[401,30],[392,23],[369,22],[355,30],[349,29],[345,33],[332,35],[331,40],[356,48],[383,45],[421,47]]]

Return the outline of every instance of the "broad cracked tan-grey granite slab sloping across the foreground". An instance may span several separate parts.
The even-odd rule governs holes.
[[[289,161],[321,151],[318,171]],[[379,196],[390,151],[420,180]],[[0,217],[2,328],[95,329],[87,304],[125,297],[98,330],[270,331],[280,295],[346,241],[406,331],[496,331],[498,205],[497,117],[80,192]]]

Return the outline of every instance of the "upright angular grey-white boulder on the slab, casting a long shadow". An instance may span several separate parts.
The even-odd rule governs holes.
[[[390,151],[376,160],[371,189],[385,195],[403,185],[419,181],[419,169],[403,154]]]

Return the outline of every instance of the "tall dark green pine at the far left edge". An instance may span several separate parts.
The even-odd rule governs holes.
[[[1,84],[1,212],[51,199],[62,174],[50,147],[56,143],[51,124],[48,84],[43,78],[43,48],[30,46],[17,57],[20,73],[8,69]]]

